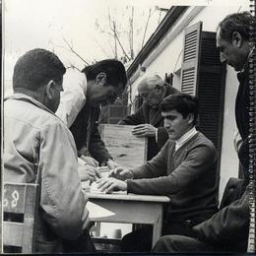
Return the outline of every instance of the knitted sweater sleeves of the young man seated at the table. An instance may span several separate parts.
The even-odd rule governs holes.
[[[170,174],[166,175],[165,170],[164,175],[162,171],[160,172],[160,166],[156,164],[155,161],[160,161],[159,158],[162,151],[168,152],[167,145],[168,143],[166,143],[162,148],[160,154],[148,163],[151,167],[148,167],[147,169],[145,168],[147,165],[144,167],[144,173],[147,173],[149,170],[151,173],[155,173],[154,178],[151,178],[149,175],[147,178],[143,178],[146,177],[146,175],[142,175],[143,168],[141,168],[140,172],[137,171],[135,173],[135,178],[139,177],[140,179],[127,181],[128,192],[150,195],[168,195],[178,193],[183,188],[192,184],[200,175],[207,171],[211,171],[213,169],[213,165],[216,163],[217,155],[214,146],[211,147],[200,144],[192,148],[192,150],[187,153],[186,159],[183,160],[182,163],[179,164]],[[165,153],[165,156],[166,154],[167,153]],[[162,158],[160,161],[162,166],[164,160],[165,159]],[[140,175],[138,175],[138,173],[140,173]]]

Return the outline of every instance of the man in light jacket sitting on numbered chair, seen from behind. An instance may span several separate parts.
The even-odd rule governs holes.
[[[17,61],[14,95],[4,102],[4,182],[40,185],[35,232],[38,253],[64,252],[64,247],[78,245],[80,238],[85,248],[90,240],[85,233],[90,220],[75,142],[54,114],[65,72],[54,53],[32,49]]]

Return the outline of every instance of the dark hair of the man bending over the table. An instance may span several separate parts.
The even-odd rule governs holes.
[[[86,74],[88,80],[95,80],[96,76],[103,72],[106,74],[108,84],[114,87],[118,87],[121,83],[124,89],[127,84],[124,65],[116,59],[98,61],[96,64],[84,68],[82,72]]]

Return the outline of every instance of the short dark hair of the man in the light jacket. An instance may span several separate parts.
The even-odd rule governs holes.
[[[32,49],[19,58],[14,67],[13,89],[36,91],[50,80],[62,81],[66,68],[60,59],[45,49]]]

